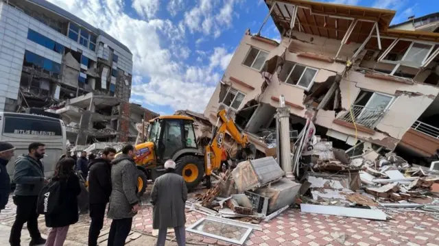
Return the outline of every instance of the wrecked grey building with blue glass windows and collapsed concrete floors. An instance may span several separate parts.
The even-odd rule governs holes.
[[[44,0],[0,1],[0,110],[60,114],[75,145],[134,141],[155,112],[129,103],[132,53]]]

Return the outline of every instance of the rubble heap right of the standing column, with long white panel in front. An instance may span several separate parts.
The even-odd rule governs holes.
[[[333,149],[331,142],[319,140],[311,163],[302,167],[300,183],[310,184],[296,201],[302,212],[383,220],[386,216],[381,208],[439,212],[439,172],[413,167],[392,152],[381,156],[370,149],[351,158],[345,151]]]

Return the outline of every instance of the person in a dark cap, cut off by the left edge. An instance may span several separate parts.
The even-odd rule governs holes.
[[[14,156],[14,145],[8,142],[0,142],[0,212],[8,204],[10,187],[10,177],[6,165]]]

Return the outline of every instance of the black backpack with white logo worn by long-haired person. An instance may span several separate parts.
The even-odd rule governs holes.
[[[61,197],[61,183],[51,180],[41,189],[38,195],[36,210],[38,214],[54,214],[59,207]]]

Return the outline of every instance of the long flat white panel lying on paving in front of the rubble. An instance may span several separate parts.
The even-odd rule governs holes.
[[[336,216],[354,217],[361,219],[376,219],[385,221],[387,216],[381,210],[363,209],[363,208],[345,208],[339,206],[322,206],[312,204],[300,204],[302,212],[313,212],[316,214],[330,214]]]

